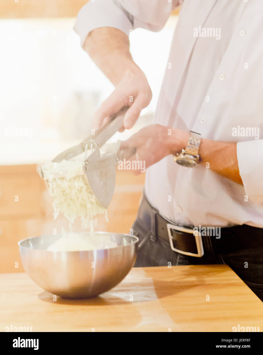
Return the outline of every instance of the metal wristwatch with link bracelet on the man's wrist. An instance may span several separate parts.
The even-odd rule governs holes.
[[[201,134],[190,131],[190,137],[185,149],[181,153],[173,154],[174,161],[186,168],[195,168],[200,161],[198,154],[201,143]]]

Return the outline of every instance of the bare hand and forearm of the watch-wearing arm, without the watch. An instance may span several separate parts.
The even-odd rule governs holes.
[[[121,149],[135,147],[135,154],[127,160],[145,160],[145,167],[148,168],[169,154],[180,153],[187,146],[188,140],[189,132],[161,125],[151,125],[144,127],[127,141],[122,142]],[[239,174],[235,142],[220,142],[202,138],[199,155],[201,166],[206,169],[209,167],[209,170],[243,185]],[[131,173],[135,175],[140,172],[140,170],[131,170]]]

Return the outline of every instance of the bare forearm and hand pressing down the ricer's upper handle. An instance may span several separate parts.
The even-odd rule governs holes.
[[[100,128],[124,106],[129,109],[120,131],[130,129],[141,110],[149,105],[152,91],[144,72],[131,57],[128,36],[117,28],[96,28],[86,38],[84,49],[115,86],[95,113],[94,129]]]

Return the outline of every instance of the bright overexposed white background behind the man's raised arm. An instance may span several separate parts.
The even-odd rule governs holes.
[[[0,20],[1,165],[41,163],[90,134],[94,110],[113,86],[80,48],[75,18]],[[131,53],[152,88],[150,105],[124,140],[151,124],[177,16],[162,31],[136,29]]]

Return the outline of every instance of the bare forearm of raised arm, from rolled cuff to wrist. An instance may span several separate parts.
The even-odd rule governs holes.
[[[101,27],[91,31],[84,50],[116,86],[127,72],[139,70],[133,61],[128,36],[117,28]]]

